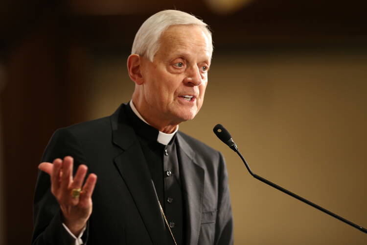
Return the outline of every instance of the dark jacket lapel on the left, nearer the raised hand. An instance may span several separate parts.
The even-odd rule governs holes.
[[[158,197],[134,129],[124,114],[124,108],[120,107],[111,117],[113,142],[123,149],[114,159],[115,166],[135,201],[153,244],[162,245],[165,244],[165,226]]]

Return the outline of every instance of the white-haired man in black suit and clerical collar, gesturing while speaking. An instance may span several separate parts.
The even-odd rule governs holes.
[[[132,100],[58,129],[46,147],[32,244],[233,243],[224,159],[178,131],[203,104],[212,50],[207,25],[187,13],[141,25],[127,60]]]

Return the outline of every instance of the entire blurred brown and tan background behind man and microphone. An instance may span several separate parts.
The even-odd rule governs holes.
[[[236,245],[366,245],[367,235],[254,179],[252,171],[367,227],[364,0],[2,0],[0,244],[30,244],[37,165],[55,129],[131,98],[126,59],[163,9],[213,31],[206,101],[180,130],[227,160]]]

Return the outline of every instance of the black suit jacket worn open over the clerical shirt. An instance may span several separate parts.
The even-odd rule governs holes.
[[[83,235],[88,245],[172,245],[167,240],[153,181],[127,104],[106,118],[58,129],[42,161],[74,157],[74,171],[83,163],[98,176],[93,211]],[[228,177],[220,152],[177,133],[186,213],[186,243],[233,243]],[[70,245],[59,205],[50,192],[50,178],[39,172],[34,197],[33,245]]]

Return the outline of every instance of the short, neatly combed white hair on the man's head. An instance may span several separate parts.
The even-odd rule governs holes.
[[[135,35],[132,54],[146,57],[153,62],[160,48],[160,37],[171,25],[197,25],[207,33],[210,48],[213,50],[211,32],[203,21],[193,15],[179,10],[163,10],[149,17],[139,28]]]

